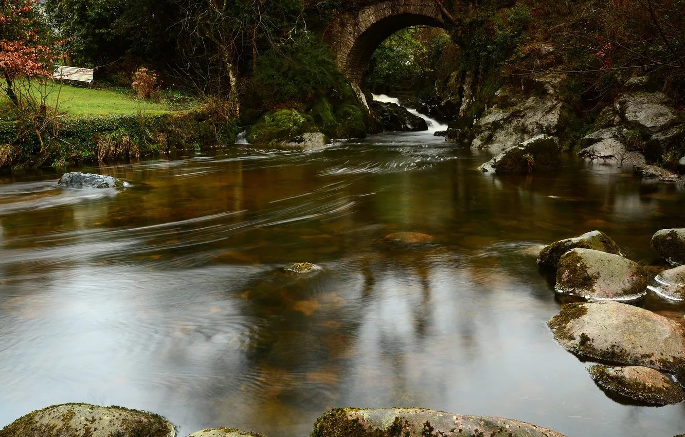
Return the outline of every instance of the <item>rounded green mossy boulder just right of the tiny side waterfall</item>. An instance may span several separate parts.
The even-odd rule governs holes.
[[[247,140],[255,145],[282,145],[306,132],[319,132],[311,116],[296,110],[274,110],[252,126]]]

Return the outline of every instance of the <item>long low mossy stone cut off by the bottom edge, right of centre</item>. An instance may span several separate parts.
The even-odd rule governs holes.
[[[530,423],[463,416],[423,408],[335,408],[314,423],[310,437],[564,437]]]

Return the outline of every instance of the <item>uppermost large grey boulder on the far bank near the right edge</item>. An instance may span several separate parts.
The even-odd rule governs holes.
[[[632,129],[661,132],[675,125],[677,113],[662,92],[627,92],[616,101],[616,110]]]

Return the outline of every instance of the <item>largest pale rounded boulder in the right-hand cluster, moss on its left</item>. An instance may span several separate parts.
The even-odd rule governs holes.
[[[603,362],[685,371],[685,330],[644,308],[616,301],[567,303],[547,325],[564,349]]]

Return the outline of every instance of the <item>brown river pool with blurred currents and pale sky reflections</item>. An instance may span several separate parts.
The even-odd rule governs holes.
[[[333,407],[505,416],[569,437],[671,437],[685,405],[621,405],[553,340],[539,245],[601,229],[648,264],[685,192],[569,160],[490,177],[421,134],[317,153],[230,148],[86,168],[125,190],[0,184],[0,426],[54,403],[309,434]],[[431,234],[389,247],[397,231]],[[293,262],[323,271],[280,271]],[[649,296],[651,310],[685,306]]]

